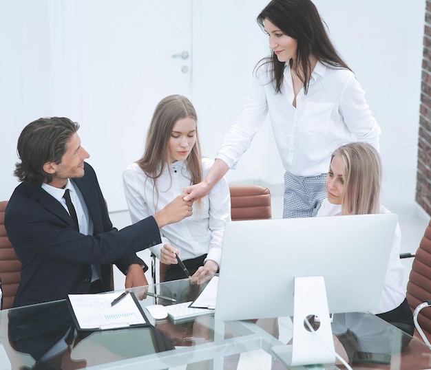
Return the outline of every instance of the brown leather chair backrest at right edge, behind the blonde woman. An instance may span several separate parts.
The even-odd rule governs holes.
[[[406,296],[413,311],[421,303],[431,300],[431,221],[415,254]],[[428,340],[431,340],[431,307],[421,310],[418,323]]]

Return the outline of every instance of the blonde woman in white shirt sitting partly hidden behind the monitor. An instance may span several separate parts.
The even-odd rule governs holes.
[[[390,213],[380,204],[381,173],[379,153],[370,144],[353,142],[340,146],[330,161],[326,178],[328,197],[322,202],[317,216]],[[412,335],[414,323],[403,287],[400,244],[401,230],[397,225],[381,301],[372,313]]]

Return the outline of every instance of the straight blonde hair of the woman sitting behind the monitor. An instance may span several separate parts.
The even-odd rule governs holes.
[[[352,142],[340,146],[331,161],[335,156],[346,168],[341,215],[379,213],[382,166],[377,150],[365,142]]]

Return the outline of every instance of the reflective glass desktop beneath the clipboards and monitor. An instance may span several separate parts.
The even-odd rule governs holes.
[[[145,292],[182,303],[193,301],[207,282],[184,279],[132,291],[142,307],[169,305],[169,299],[144,298]],[[256,304],[268,303],[257,296]],[[180,323],[155,320],[149,314],[147,318],[146,327],[76,332],[66,301],[0,311],[0,370],[288,369],[271,349],[289,342],[290,318],[278,318],[275,327],[263,327],[259,320],[221,322],[212,313]],[[353,369],[431,368],[431,351],[419,338],[403,334],[372,314],[334,315],[333,334],[336,348],[341,346],[349,358],[353,351],[390,355],[390,364],[353,362]],[[341,364],[331,366],[291,369],[344,369]]]

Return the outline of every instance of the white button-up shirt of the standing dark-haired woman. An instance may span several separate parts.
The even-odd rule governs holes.
[[[242,113],[220,146],[217,158],[235,168],[249,149],[255,133],[269,112],[275,142],[284,169],[297,176],[328,171],[330,155],[348,142],[368,142],[379,149],[380,128],[353,72],[317,62],[308,86],[295,98],[291,68],[286,63],[282,93],[275,94],[269,64],[253,73],[253,82]]]

